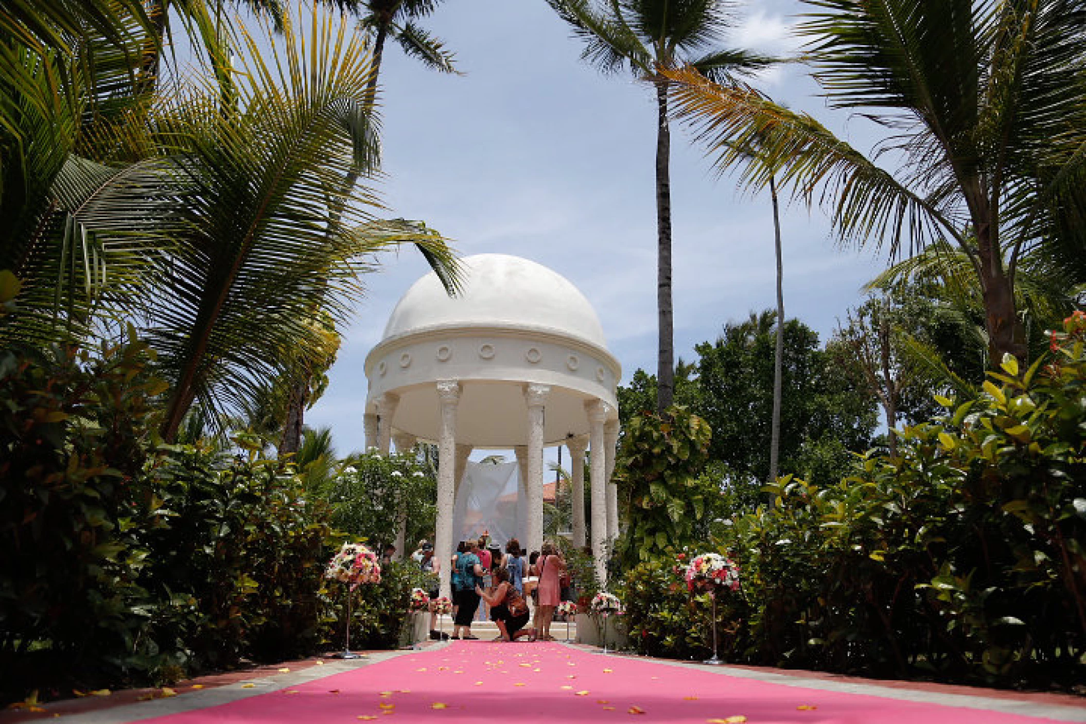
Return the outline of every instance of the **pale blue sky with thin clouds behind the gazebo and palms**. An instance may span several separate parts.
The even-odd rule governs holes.
[[[746,0],[729,47],[786,54],[799,47],[797,0]],[[390,217],[420,219],[460,255],[504,253],[551,267],[595,306],[623,381],[656,369],[656,107],[630,75],[601,75],[544,0],[445,0],[425,27],[456,53],[439,74],[390,45],[381,69],[383,172]],[[832,112],[809,69],[778,66],[754,80],[870,151],[879,136]],[[672,125],[675,355],[715,341],[730,320],[775,306],[768,193],[718,178]],[[885,267],[873,250],[834,243],[818,207],[782,207],[785,316],[824,341]],[[341,455],[364,448],[365,359],[408,287],[428,271],[414,250],[381,259],[350,326],[324,397],[306,415],[330,425]],[[472,456],[477,458],[482,453]]]

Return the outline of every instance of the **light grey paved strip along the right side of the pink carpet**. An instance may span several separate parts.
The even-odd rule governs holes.
[[[567,644],[567,646],[569,646]],[[577,650],[584,649],[579,646],[570,646]],[[1043,703],[1023,699],[1002,699],[986,697],[980,694],[947,694],[944,691],[925,691],[920,689],[908,689],[892,686],[879,686],[877,684],[858,682],[836,682],[824,678],[812,678],[801,674],[784,674],[766,671],[752,671],[736,666],[706,666],[693,661],[674,661],[671,659],[653,659],[651,657],[637,657],[627,653],[608,655],[616,657],[635,658],[642,661],[654,661],[667,666],[679,666],[682,669],[694,669],[710,674],[732,676],[735,678],[753,678],[767,684],[780,684],[800,689],[819,689],[822,691],[835,691],[842,694],[862,694],[867,696],[881,697],[883,699],[896,699],[898,701],[918,701],[922,703],[934,703],[944,707],[958,707],[962,709],[978,709],[984,711],[998,711],[1007,714],[1018,714],[1020,716],[1048,717],[1061,722],[1086,722],[1086,701],[1082,707],[1072,704]]]

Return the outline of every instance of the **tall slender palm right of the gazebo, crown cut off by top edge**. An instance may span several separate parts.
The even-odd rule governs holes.
[[[743,50],[720,50],[717,41],[733,24],[725,0],[547,0],[585,42],[581,55],[604,73],[629,68],[656,88],[657,411],[674,397],[671,304],[671,132],[667,79],[658,68],[690,64],[724,80],[766,67],[772,59]]]

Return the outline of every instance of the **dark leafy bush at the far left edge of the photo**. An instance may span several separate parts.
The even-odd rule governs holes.
[[[146,345],[0,352],[0,695],[147,671],[136,529],[155,429]]]

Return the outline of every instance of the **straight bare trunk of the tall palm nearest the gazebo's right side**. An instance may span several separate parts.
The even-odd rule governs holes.
[[[656,364],[656,411],[662,414],[674,399],[674,320],[671,305],[671,131],[668,127],[668,89],[656,84],[659,111],[656,129],[656,306],[659,343]]]

